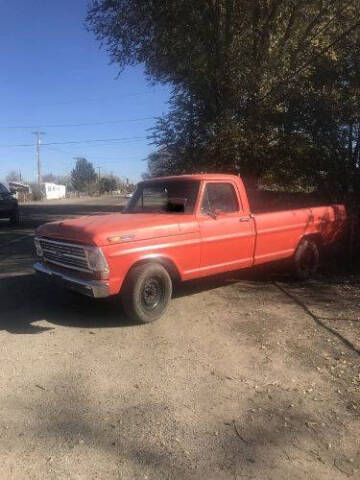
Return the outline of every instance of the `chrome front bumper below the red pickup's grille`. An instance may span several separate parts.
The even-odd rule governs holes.
[[[105,298],[110,296],[109,282],[74,278],[52,270],[41,262],[36,262],[34,264],[34,270],[37,274],[47,277],[54,282],[58,282],[69,290],[74,290],[75,292],[82,293],[88,297]]]

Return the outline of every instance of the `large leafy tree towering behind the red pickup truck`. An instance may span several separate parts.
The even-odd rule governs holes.
[[[171,155],[168,172],[300,178],[341,192],[359,171],[359,6],[94,0],[88,24],[120,69],[143,63],[150,80],[172,85],[152,135]]]

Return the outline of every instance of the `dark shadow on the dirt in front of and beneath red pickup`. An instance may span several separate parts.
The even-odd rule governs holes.
[[[179,299],[201,292],[238,284],[243,291],[256,288],[267,290],[280,282],[286,288],[304,290],[307,301],[317,305],[330,305],[333,314],[334,299],[323,278],[311,282],[296,282],[286,273],[286,266],[262,266],[216,275],[202,280],[175,285],[173,298]],[[53,330],[52,325],[84,329],[136,327],[142,324],[128,319],[118,296],[94,300],[52,286],[34,274],[9,273],[0,276],[0,330],[14,334],[38,334]],[[284,302],[292,301],[284,295]],[[351,299],[349,299],[351,301]],[[211,307],[209,307],[211,309]],[[325,319],[324,319],[325,320]],[[331,320],[331,318],[327,319]],[[45,322],[48,322],[47,324]]]

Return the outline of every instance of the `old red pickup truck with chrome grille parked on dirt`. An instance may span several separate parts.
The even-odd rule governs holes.
[[[345,220],[342,205],[256,214],[235,175],[156,178],[138,184],[123,212],[40,226],[34,268],[92,297],[120,294],[131,317],[150,322],[176,280],[285,258],[307,278]]]

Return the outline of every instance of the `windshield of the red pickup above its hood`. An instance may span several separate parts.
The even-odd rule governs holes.
[[[140,183],[125,213],[194,213],[198,181],[172,180]]]

